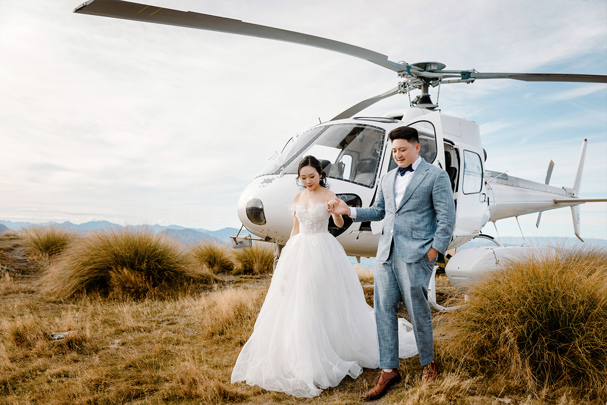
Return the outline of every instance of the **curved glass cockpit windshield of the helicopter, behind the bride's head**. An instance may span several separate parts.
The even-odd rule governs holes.
[[[297,174],[299,161],[313,155],[328,177],[373,187],[384,137],[384,129],[364,124],[316,127],[287,143],[264,174],[278,174],[282,168],[285,173]]]

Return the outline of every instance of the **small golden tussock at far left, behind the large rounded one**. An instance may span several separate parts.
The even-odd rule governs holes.
[[[78,240],[79,235],[61,226],[32,225],[26,228],[24,247],[32,256],[53,257]]]

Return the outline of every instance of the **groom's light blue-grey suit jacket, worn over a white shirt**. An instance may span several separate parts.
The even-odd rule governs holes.
[[[384,220],[376,259],[388,260],[392,242],[399,259],[407,263],[421,260],[430,247],[445,254],[455,228],[449,175],[422,159],[397,206],[394,194],[397,172],[394,169],[382,177],[372,206],[356,209],[357,222]]]

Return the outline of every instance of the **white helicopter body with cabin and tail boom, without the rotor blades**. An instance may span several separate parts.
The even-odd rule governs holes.
[[[576,189],[487,170],[476,123],[412,107],[385,117],[321,123],[299,135],[285,146],[271,168],[243,191],[238,203],[240,221],[256,236],[285,245],[293,228],[288,206],[302,189],[297,185],[297,163],[309,154],[322,162],[331,191],[347,200],[348,205],[372,205],[379,179],[396,167],[388,134],[405,125],[418,129],[420,155],[446,170],[452,182],[456,222],[450,249],[479,236],[489,221],[563,206],[577,208],[575,205],[581,203],[576,198]],[[574,211],[575,225],[578,224]],[[347,220],[343,228],[330,226],[330,231],[348,255],[371,257],[378,247],[381,226],[381,222]]]

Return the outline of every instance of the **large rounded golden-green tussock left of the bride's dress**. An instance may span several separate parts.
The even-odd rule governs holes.
[[[112,298],[144,298],[214,279],[176,240],[149,228],[109,228],[87,234],[66,250],[42,285],[59,298],[92,291]]]

